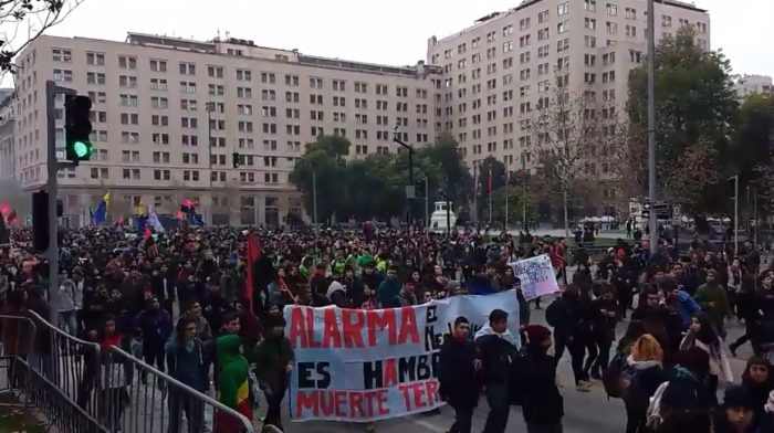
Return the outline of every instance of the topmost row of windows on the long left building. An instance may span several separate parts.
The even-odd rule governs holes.
[[[52,60],[54,62],[60,62],[60,63],[73,63],[73,54],[72,50],[66,50],[66,49],[52,49]],[[118,55],[117,56],[118,61],[118,67],[122,70],[137,70],[138,68],[138,59],[134,56],[126,56],[126,55]],[[157,59],[149,59],[148,60],[148,67],[151,72],[155,73],[167,73],[169,67],[168,67],[168,61],[166,60],[157,60]],[[104,66],[105,65],[105,54],[104,53],[94,53],[94,52],[87,52],[86,53],[86,64],[92,65],[92,66]],[[207,68],[207,76],[210,78],[216,78],[216,80],[222,80],[226,78],[227,76],[227,68],[224,66],[215,66],[215,65],[208,65],[206,66]],[[178,62],[178,72],[180,75],[187,75],[187,76],[196,76],[198,68],[195,63],[190,62]],[[93,72],[92,76],[97,77],[94,83],[90,84],[105,84],[105,74],[104,73],[97,73]],[[252,82],[253,81],[253,72],[251,70],[245,70],[245,68],[236,68],[233,71],[233,76],[238,82]],[[72,76],[72,71],[70,71],[70,75]],[[278,84],[278,73],[273,72],[261,72],[260,73],[260,82],[262,84]],[[101,78],[100,78],[101,77]],[[136,82],[136,76],[133,76],[134,81]],[[331,89],[334,92],[347,92],[348,89],[348,82],[346,80],[341,80],[341,78],[330,78],[331,81]],[[318,76],[310,76],[308,77],[308,87],[310,88],[315,88],[315,89],[323,89],[326,88],[325,86],[326,78],[318,77]],[[286,86],[293,86],[293,87],[299,87],[301,85],[301,77],[300,75],[296,74],[284,74],[284,83]],[[376,95],[388,95],[389,94],[389,87],[390,85],[388,84],[370,84],[370,83],[364,83],[364,82],[353,82],[352,83],[352,88],[354,89],[355,93],[362,93],[362,94],[367,94],[369,88],[374,88],[374,93]],[[402,85],[395,85],[394,86],[395,93],[394,95],[396,97],[408,97],[409,95],[409,87],[408,86],[402,86]],[[428,97],[428,92],[425,88],[417,88],[415,91],[415,96],[418,98],[423,98],[427,99]]]

